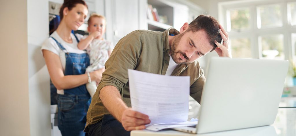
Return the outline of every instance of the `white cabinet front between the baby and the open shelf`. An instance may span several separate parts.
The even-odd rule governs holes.
[[[107,0],[107,39],[116,44],[128,33],[141,29],[140,19],[143,18],[144,9],[141,0]],[[145,15],[145,13],[144,13]],[[111,31],[111,33],[110,33]]]

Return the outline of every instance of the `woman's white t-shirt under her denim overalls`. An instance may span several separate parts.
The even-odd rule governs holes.
[[[77,47],[78,42],[75,36],[72,33],[70,35],[72,38],[72,43],[65,42],[58,35],[57,31],[54,31],[50,36],[54,37],[54,39],[56,39],[67,50],[68,53],[77,53],[77,54],[86,53],[86,51],[78,49]],[[83,37],[83,35],[80,35],[80,34],[75,34],[75,35],[77,36],[78,40],[80,40]],[[49,50],[54,54],[57,54],[59,56],[59,59],[61,60],[63,71],[65,72],[65,67],[66,67],[65,52],[59,48],[59,46],[57,45],[57,42],[53,40],[51,37],[47,38],[42,43],[41,53],[42,53],[42,50]],[[57,90],[57,94],[64,94],[64,90]]]

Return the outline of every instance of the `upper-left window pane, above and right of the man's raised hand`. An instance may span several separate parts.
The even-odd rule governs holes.
[[[231,24],[229,31],[247,30],[250,28],[250,9],[233,9],[228,11],[228,20]]]

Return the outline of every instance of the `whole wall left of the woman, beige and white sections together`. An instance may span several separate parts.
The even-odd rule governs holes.
[[[0,135],[49,136],[49,75],[40,53],[48,1],[4,1],[0,16]]]

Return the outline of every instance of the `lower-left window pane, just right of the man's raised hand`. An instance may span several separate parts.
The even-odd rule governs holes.
[[[233,58],[252,58],[249,38],[232,38],[230,45]]]

